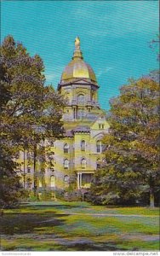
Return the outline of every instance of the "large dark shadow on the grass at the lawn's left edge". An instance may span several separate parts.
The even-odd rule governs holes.
[[[29,212],[9,212],[5,213],[1,223],[2,235],[19,235],[33,233],[35,229],[51,228],[64,224],[65,220],[60,219],[66,214],[56,214],[54,212],[29,213]]]

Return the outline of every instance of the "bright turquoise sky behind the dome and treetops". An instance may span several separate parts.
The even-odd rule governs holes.
[[[149,47],[158,26],[158,2],[153,0],[1,2],[1,42],[12,35],[30,55],[40,55],[46,84],[55,89],[79,36],[104,109],[128,79],[139,79],[158,67],[156,52]]]

